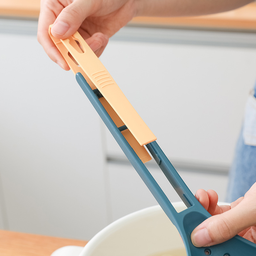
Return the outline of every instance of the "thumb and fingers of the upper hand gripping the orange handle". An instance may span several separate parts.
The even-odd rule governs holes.
[[[90,5],[91,3],[91,5]],[[91,9],[90,9],[91,8]],[[93,7],[95,8],[95,6]],[[52,11],[54,9],[54,12]],[[58,49],[53,44],[48,35],[49,25],[53,23],[51,33],[57,38],[66,38],[74,34],[88,13],[92,12],[92,1],[76,0],[63,9],[63,5],[54,8],[42,8],[38,22],[38,42],[43,46],[47,55],[61,68],[69,70],[67,62],[64,60]],[[60,13],[59,15],[56,15]],[[57,19],[56,19],[56,16]],[[46,24],[45,20],[48,21]],[[102,33],[95,33],[92,36],[82,30],[82,36],[95,54],[99,57],[108,43],[108,36]]]

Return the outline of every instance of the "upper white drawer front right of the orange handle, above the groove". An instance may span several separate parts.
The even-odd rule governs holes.
[[[256,80],[256,36],[173,31],[129,28],[132,39],[110,40],[101,60],[172,161],[228,166]],[[108,135],[107,146],[122,156]]]

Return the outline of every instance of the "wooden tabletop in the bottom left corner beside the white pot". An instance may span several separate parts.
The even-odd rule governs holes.
[[[62,246],[84,246],[86,243],[81,240],[0,230],[1,256],[50,256]]]

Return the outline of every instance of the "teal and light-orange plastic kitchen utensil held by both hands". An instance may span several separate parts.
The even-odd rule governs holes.
[[[190,239],[191,232],[211,215],[197,201],[187,185],[174,169],[168,158],[156,143],[156,137],[134,110],[106,68],[76,32],[73,36],[60,40],[49,34],[52,41],[76,74],[76,80],[92,105],[124,151],[134,169],[147,185],[166,215],[178,229],[188,256],[243,256],[256,255],[256,244],[240,237],[209,247],[195,247]],[[152,177],[145,162],[156,160],[166,178],[181,200],[188,207],[176,212],[163,190]]]

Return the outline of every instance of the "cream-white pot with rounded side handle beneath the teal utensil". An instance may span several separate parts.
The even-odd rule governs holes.
[[[186,209],[183,202],[173,203],[173,206],[177,212]],[[153,256],[182,248],[185,253],[177,229],[157,205],[114,221],[84,248],[65,246],[52,256]]]

